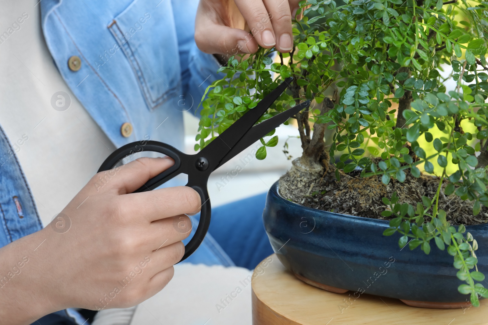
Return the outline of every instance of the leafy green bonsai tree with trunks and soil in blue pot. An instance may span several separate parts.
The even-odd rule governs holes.
[[[298,126],[303,154],[281,178],[281,195],[389,220],[384,235],[400,233],[400,248],[446,250],[466,282],[459,292],[479,306],[488,290],[476,267],[476,239],[464,224],[488,220],[488,2],[301,6],[291,53],[260,49],[219,69],[226,77],[203,98],[195,150],[293,76],[291,91],[261,119],[314,100],[289,121]],[[273,133],[261,139],[258,159],[278,143]]]

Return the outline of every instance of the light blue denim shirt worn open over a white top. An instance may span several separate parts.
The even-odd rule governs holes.
[[[117,147],[150,138],[183,149],[183,112],[195,113],[205,88],[219,78],[218,61],[193,38],[198,0],[42,0],[40,6],[43,35],[61,76]],[[74,56],[79,69],[68,64]],[[130,134],[122,130],[126,123]],[[42,225],[1,127],[0,157],[2,247]],[[84,321],[68,309],[35,324]]]

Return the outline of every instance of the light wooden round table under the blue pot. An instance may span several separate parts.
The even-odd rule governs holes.
[[[253,325],[488,325],[488,301],[478,308],[427,309],[366,293],[353,295],[305,284],[273,254],[252,275]]]

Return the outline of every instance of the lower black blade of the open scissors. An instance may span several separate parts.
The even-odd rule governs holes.
[[[247,147],[252,145],[254,142],[258,141],[264,135],[268,134],[273,129],[276,129],[281,124],[285,123],[285,121],[287,121],[288,118],[297,114],[298,112],[307,108],[308,106],[310,106],[310,100],[306,100],[297,106],[287,109],[285,112],[282,112],[278,115],[268,118],[267,120],[253,126],[249,131],[247,131],[246,134],[244,134],[241,140],[239,140],[239,142],[237,142],[236,145],[225,155],[225,157],[221,160],[220,164],[217,167],[215,167],[215,169],[224,165],[231,158],[243,152]]]

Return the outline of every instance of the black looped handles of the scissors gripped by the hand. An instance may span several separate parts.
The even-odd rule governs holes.
[[[134,154],[141,153],[143,151],[163,153],[171,157],[175,161],[175,164],[164,172],[160,173],[159,175],[156,175],[155,177],[149,179],[144,185],[134,191],[134,193],[154,190],[155,188],[167,182],[176,175],[180,173],[188,173],[186,171],[188,163],[193,162],[192,157],[194,157],[192,155],[182,153],[178,149],[163,142],[142,140],[128,143],[111,153],[102,163],[102,166],[100,166],[98,172],[111,170],[114,168],[115,165],[120,163],[123,158],[131,155],[133,156]],[[208,177],[203,177],[200,178],[200,181],[197,181],[195,183],[193,183],[192,180],[188,179],[188,183],[186,184],[186,186],[191,187],[192,189],[197,191],[198,194],[200,194],[202,207],[200,211],[200,222],[198,224],[197,230],[195,231],[192,239],[188,242],[188,244],[185,245],[184,255],[180,262],[185,260],[200,246],[200,244],[203,242],[203,238],[208,231],[208,227],[210,226],[211,207],[210,199],[207,192],[207,179]]]

